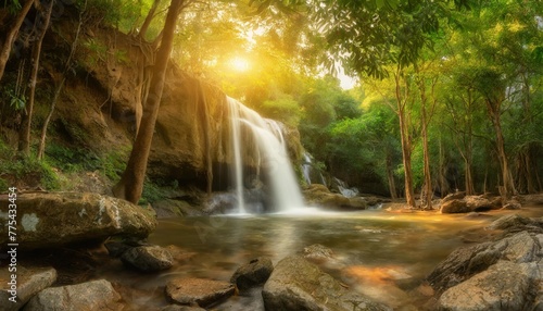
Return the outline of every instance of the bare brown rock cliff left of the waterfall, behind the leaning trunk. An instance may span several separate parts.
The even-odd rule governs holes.
[[[52,88],[59,79],[59,59],[74,38],[73,23],[70,18],[58,22],[48,33],[43,47],[48,77],[40,82],[42,88]],[[77,66],[70,73],[50,132],[80,148],[129,149],[147,94],[153,47],[99,27],[83,29],[79,42]],[[46,110],[46,105],[38,108],[38,119]],[[228,115],[227,97],[220,89],[171,63],[149,159],[151,178],[200,189],[227,189],[233,157]],[[286,132],[289,153],[298,158],[298,132]],[[241,135],[247,146],[244,165],[256,167],[254,142],[247,133]]]

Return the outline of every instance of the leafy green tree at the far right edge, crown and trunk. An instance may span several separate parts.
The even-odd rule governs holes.
[[[458,61],[469,64],[465,77],[458,78],[472,82],[473,96],[481,97],[481,108],[492,124],[498,186],[505,198],[517,194],[515,179],[534,179],[529,173],[532,170],[523,169],[525,165],[514,173],[510,161],[517,158],[522,163],[531,158],[525,158],[531,152],[526,153],[523,147],[517,146],[538,149],[540,145],[535,142],[538,139],[529,140],[532,137],[529,128],[533,128],[531,96],[538,89],[534,82],[543,69],[542,32],[538,22],[541,10],[541,1],[477,3],[470,14],[459,16],[467,27],[457,29],[458,39],[453,41]],[[522,133],[526,129],[529,132]]]

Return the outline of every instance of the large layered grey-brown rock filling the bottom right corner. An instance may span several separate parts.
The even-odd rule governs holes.
[[[428,276],[438,310],[539,310],[543,227],[507,215],[488,228],[504,232],[496,240],[453,251]]]

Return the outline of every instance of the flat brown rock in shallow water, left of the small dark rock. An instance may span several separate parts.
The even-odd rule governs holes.
[[[233,285],[204,278],[175,278],[166,285],[167,298],[179,304],[209,307],[233,295]]]

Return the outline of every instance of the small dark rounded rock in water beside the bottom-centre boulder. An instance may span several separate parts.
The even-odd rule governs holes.
[[[230,283],[236,284],[240,290],[244,290],[264,284],[273,271],[272,259],[258,257],[236,270]]]

